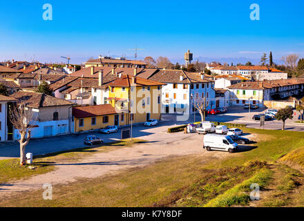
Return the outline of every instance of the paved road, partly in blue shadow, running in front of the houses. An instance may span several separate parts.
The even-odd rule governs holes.
[[[221,115],[209,115],[207,121],[215,122],[231,122],[231,123],[242,123],[247,124],[250,128],[260,128],[259,122],[255,122],[251,119],[254,114],[265,112],[265,109],[259,109],[252,111],[249,115],[243,108],[229,108],[228,112]],[[248,116],[249,119],[248,119]],[[200,115],[196,115],[196,122],[200,121]],[[295,116],[298,119],[298,115]],[[178,126],[194,122],[194,115],[189,118],[185,118],[183,121],[178,121],[176,115],[163,115],[163,120],[160,126],[146,128],[144,126],[133,127],[133,137],[140,137],[141,139],[149,142],[169,142],[167,128],[172,126]],[[281,130],[282,122],[276,120],[271,122],[265,122],[265,129]],[[304,131],[304,125],[294,124],[292,120],[287,120],[286,129],[292,131]],[[113,142],[120,140],[120,132],[112,133],[110,135],[96,134],[101,137],[104,142]],[[33,155],[42,155],[46,153],[53,153],[57,151],[65,151],[73,148],[81,148],[84,146],[83,140],[88,133],[82,133],[79,136],[76,135],[64,135],[59,137],[50,137],[44,139],[31,140],[30,144],[26,147],[26,152],[33,153]],[[19,143],[0,143],[0,160],[19,157]]]

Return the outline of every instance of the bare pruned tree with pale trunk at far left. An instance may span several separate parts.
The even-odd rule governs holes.
[[[17,128],[20,133],[20,165],[26,164],[26,146],[30,142],[30,129],[34,126],[33,122],[36,120],[32,111],[26,110],[23,104],[13,106],[10,113],[10,121],[12,125]]]

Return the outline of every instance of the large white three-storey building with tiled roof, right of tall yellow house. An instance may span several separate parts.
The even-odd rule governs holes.
[[[215,106],[214,81],[204,79],[201,73],[188,73],[183,70],[160,70],[149,79],[160,81],[162,87],[162,106],[164,113],[197,112],[196,102],[206,98],[207,108]]]

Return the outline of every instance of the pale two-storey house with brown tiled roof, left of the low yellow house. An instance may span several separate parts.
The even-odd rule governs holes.
[[[17,104],[25,104],[26,111],[34,114],[35,126],[31,129],[33,138],[73,133],[73,103],[42,93],[24,91],[18,91],[10,97],[17,99]],[[19,138],[19,131],[15,129],[14,139]]]

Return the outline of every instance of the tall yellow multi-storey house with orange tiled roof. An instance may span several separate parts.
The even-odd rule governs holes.
[[[126,113],[127,124],[146,122],[149,119],[161,119],[162,85],[131,75],[121,75],[107,84],[108,100],[117,110]]]

